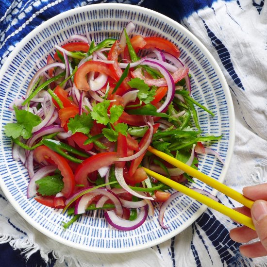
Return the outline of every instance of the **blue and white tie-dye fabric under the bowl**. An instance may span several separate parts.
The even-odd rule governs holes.
[[[100,2],[105,1],[2,0],[0,66],[17,42],[44,20],[74,7]],[[246,185],[267,183],[267,6],[264,0],[107,2],[139,4],[163,13],[180,21],[208,48],[227,79],[234,101],[236,139],[225,183],[240,192]],[[229,207],[238,206],[222,194],[218,197]],[[49,266],[267,266],[267,257],[242,257],[240,244],[229,237],[233,227],[235,223],[230,219],[208,209],[183,233],[153,248],[119,255],[89,253],[70,249],[37,232],[17,215],[0,191],[0,243],[24,251],[26,257],[39,250],[40,258]]]

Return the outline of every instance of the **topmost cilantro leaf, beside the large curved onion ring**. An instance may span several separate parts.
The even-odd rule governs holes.
[[[137,97],[139,98],[140,102],[144,102],[145,104],[150,103],[152,100],[154,100],[154,96],[156,94],[156,89],[154,86],[152,86],[151,90],[148,84],[145,83],[144,80],[140,78],[132,78],[131,81],[128,82],[128,84],[132,88],[136,88],[139,90],[137,93]]]

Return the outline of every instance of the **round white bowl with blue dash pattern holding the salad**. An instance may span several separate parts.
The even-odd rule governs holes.
[[[149,9],[115,3],[76,8],[41,24],[17,45],[0,70],[0,186],[17,212],[33,227],[58,242],[81,250],[119,253],[151,247],[182,232],[206,208],[183,196],[173,201],[167,209],[165,218],[168,229],[159,225],[156,209],[155,216],[147,218],[134,231],[111,229],[102,212],[98,212],[96,218],[92,214],[80,217],[64,230],[61,222],[68,221],[69,217],[63,215],[62,210],[54,210],[34,199],[27,199],[27,170],[21,162],[12,159],[11,140],[3,133],[3,126],[14,119],[8,106],[25,95],[37,66],[46,64],[48,54],[55,51],[54,45],[63,44],[75,33],[85,35],[87,29],[96,42],[107,37],[118,38],[129,21],[134,22],[136,33],[163,36],[180,48],[181,60],[192,74],[193,98],[215,114],[215,117],[211,117],[198,110],[200,127],[205,134],[223,134],[223,138],[210,144],[210,147],[220,153],[225,165],[212,155],[202,155],[199,159],[200,171],[222,182],[233,152],[234,109],[227,83],[209,51],[183,26]],[[201,182],[197,182],[197,186],[216,193]]]

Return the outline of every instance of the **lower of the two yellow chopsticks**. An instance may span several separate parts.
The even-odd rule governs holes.
[[[167,184],[168,186],[184,193],[185,195],[187,195],[188,197],[198,200],[201,203],[207,205],[208,207],[217,210],[218,212],[234,219],[235,221],[244,224],[246,226],[248,226],[249,228],[255,230],[254,224],[252,222],[252,219],[242,213],[239,213],[227,206],[224,206],[223,204],[210,199],[209,197],[206,197],[186,186],[184,186],[183,184],[179,184],[177,182],[174,182],[173,180],[168,179],[167,177],[164,177],[161,174],[158,174],[150,169],[147,169],[145,167],[143,167],[146,171],[147,174],[149,174],[150,176],[153,176],[155,179],[157,179],[158,181]]]

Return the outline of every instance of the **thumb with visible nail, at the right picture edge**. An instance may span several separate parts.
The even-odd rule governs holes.
[[[267,201],[256,200],[251,208],[251,217],[256,232],[267,250]]]

